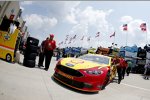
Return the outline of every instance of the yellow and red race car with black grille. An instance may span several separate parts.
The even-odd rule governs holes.
[[[111,57],[86,54],[78,58],[62,58],[53,78],[77,90],[99,92],[110,81]]]

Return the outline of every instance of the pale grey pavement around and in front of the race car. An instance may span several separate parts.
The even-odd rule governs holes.
[[[114,80],[98,93],[86,93],[55,81],[55,65],[55,57],[48,71],[0,60],[0,100],[150,100],[150,80],[140,74],[126,76],[121,84]]]

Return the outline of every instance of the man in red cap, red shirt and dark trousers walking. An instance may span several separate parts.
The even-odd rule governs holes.
[[[50,38],[45,43],[45,70],[47,71],[49,69],[49,65],[51,62],[51,58],[53,56],[53,51],[56,48],[56,42],[53,40],[54,35],[50,34]]]

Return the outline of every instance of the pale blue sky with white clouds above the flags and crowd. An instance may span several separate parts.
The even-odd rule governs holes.
[[[23,19],[31,36],[44,40],[50,33],[58,43],[76,35],[72,43],[63,46],[118,47],[144,46],[150,42],[150,1],[24,1],[20,2]],[[147,32],[140,30],[146,23]],[[128,31],[123,31],[128,24]],[[95,38],[96,33],[100,36]],[[110,35],[116,33],[115,38]],[[84,36],[84,39],[81,38]],[[91,37],[90,41],[87,38]]]

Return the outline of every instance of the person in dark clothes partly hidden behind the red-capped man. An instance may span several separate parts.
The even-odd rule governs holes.
[[[43,62],[44,62],[44,49],[45,49],[45,43],[46,41],[49,40],[49,37],[46,38],[46,40],[42,41],[41,45],[40,45],[40,54],[39,54],[39,63],[38,63],[38,67],[44,67],[43,66]]]

